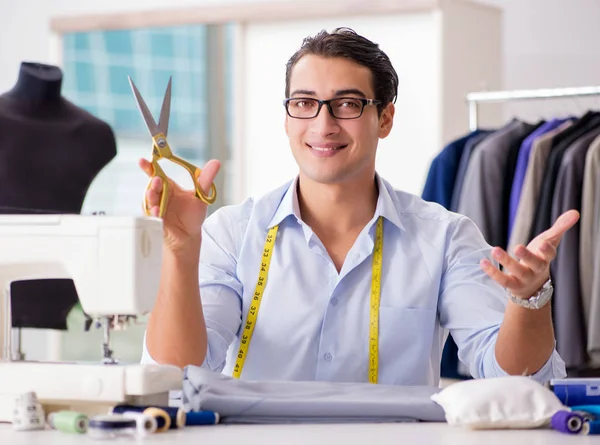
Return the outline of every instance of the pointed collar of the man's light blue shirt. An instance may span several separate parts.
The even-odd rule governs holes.
[[[399,229],[404,230],[404,226],[400,221],[398,215],[398,209],[396,209],[396,203],[392,199],[390,194],[391,185],[384,181],[378,173],[375,173],[375,179],[379,188],[379,197],[377,198],[377,205],[375,207],[375,215],[373,222],[377,220],[379,216],[387,219]],[[288,189],[286,190],[283,198],[279,202],[277,211],[269,222],[268,229],[280,224],[288,216],[295,216],[297,221],[301,221],[300,218],[300,205],[298,204],[298,176],[292,181]]]

